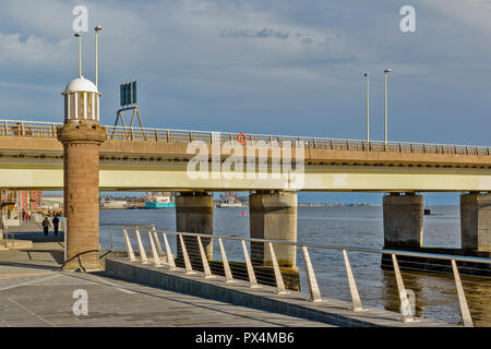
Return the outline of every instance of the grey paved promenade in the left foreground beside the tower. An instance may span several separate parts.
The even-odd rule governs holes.
[[[0,327],[328,327],[324,323],[115,280],[104,275],[62,273],[59,272],[62,253],[60,241],[35,242],[32,250],[0,252]],[[73,314],[76,299],[72,296],[77,289],[88,294],[86,316]]]

